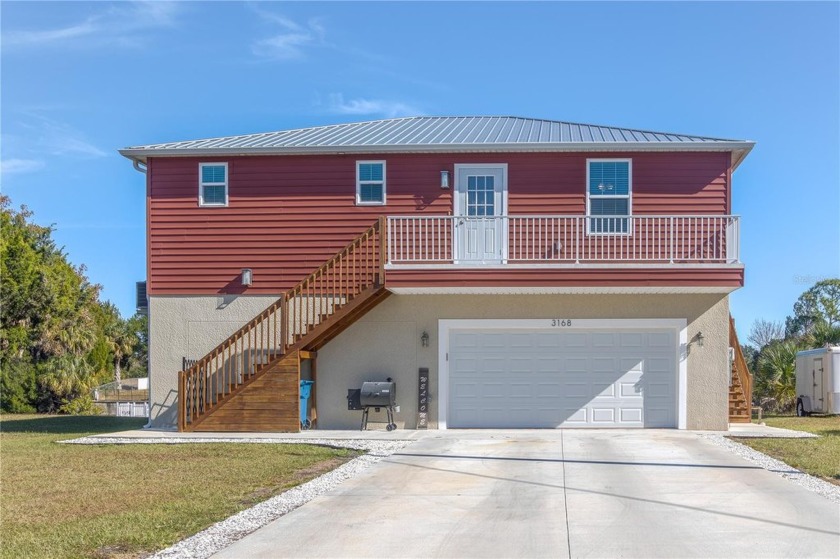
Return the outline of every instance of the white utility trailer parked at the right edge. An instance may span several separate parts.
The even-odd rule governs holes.
[[[796,354],[796,415],[840,413],[840,347]]]

